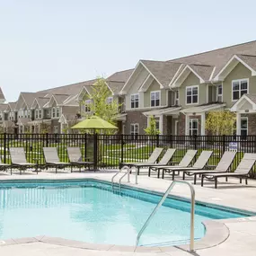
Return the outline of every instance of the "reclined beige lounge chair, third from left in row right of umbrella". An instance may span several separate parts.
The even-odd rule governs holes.
[[[164,172],[172,172],[172,170],[176,170],[176,169],[179,169],[177,171],[180,171],[181,168],[184,169],[186,167],[189,167],[197,153],[198,153],[198,150],[188,150],[178,165],[166,165],[165,164],[162,166],[155,166],[154,169],[156,169],[158,171],[157,178],[160,177],[161,170],[163,171],[162,178],[164,178]],[[174,175],[175,175],[175,172],[172,172],[172,179],[174,179]]]

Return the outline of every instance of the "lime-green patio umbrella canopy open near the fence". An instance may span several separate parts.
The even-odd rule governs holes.
[[[92,116],[76,124],[72,129],[117,129],[116,126],[97,116]]]

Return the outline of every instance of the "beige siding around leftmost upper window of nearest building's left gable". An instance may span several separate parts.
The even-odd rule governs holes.
[[[130,95],[133,93],[138,93],[138,90],[139,90],[140,86],[143,84],[143,82],[146,80],[147,75],[148,75],[148,72],[144,68],[139,73],[139,75],[137,75],[137,78],[135,79],[134,83],[131,84],[128,94],[126,95],[127,110],[130,110]],[[144,93],[139,93],[139,102],[138,102],[139,108],[143,108],[143,102],[144,102]]]

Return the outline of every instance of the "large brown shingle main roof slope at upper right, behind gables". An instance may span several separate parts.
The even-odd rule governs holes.
[[[183,64],[199,64],[216,66],[214,76],[225,66],[228,60],[234,55],[256,55],[256,40],[222,48],[215,49],[188,57],[180,57],[169,60],[169,62],[179,62]]]

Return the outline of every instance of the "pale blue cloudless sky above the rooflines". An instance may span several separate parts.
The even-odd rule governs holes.
[[[256,40],[256,1],[0,0],[0,86],[21,92]]]

